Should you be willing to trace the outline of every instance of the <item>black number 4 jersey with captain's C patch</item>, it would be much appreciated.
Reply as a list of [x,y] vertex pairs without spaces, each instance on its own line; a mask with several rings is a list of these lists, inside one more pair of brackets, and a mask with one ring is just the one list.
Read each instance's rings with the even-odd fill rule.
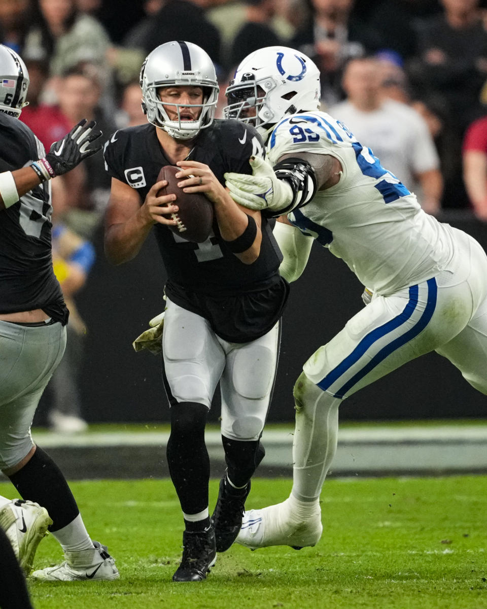
[[[207,164],[224,185],[225,172],[250,174],[248,160],[262,150],[261,137],[250,125],[216,120],[198,134],[188,158]],[[171,164],[152,124],[117,131],[105,144],[104,155],[108,173],[135,188],[141,205],[161,167]],[[216,220],[211,236],[199,244],[185,241],[164,225],[156,224],[155,231],[169,280],[186,289],[236,294],[278,275],[282,255],[264,217],[261,254],[253,264],[240,262],[228,249]]]

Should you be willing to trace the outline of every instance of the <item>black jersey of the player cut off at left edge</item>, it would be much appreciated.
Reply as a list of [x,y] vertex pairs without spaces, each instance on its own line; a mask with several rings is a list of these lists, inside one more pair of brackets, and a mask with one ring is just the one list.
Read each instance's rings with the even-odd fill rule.
[[[0,172],[44,156],[32,131],[0,112]],[[68,309],[52,270],[50,188],[44,183],[0,211],[0,313],[43,309],[65,324]]]

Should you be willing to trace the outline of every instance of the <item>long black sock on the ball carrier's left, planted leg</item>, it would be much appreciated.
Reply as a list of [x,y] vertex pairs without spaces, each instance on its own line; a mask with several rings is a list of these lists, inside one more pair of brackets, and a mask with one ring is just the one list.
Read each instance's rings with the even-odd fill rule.
[[185,514],[208,508],[209,457],[205,444],[208,408],[195,402],[173,404],[167,464]]

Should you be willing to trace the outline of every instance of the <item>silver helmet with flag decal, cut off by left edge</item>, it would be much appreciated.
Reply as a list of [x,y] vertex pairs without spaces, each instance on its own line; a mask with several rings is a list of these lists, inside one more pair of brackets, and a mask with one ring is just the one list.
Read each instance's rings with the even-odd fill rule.
[[0,44],[0,111],[19,118],[26,102],[29,88],[29,72],[26,65],[8,46]]

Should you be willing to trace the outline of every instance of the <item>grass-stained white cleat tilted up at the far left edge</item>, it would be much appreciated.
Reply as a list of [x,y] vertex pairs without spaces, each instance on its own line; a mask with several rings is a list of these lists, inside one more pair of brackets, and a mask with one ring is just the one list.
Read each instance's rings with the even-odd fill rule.
[[52,524],[45,507],[33,501],[12,499],[0,510],[0,526],[4,529],[13,551],[26,576],[32,571],[37,546]]

